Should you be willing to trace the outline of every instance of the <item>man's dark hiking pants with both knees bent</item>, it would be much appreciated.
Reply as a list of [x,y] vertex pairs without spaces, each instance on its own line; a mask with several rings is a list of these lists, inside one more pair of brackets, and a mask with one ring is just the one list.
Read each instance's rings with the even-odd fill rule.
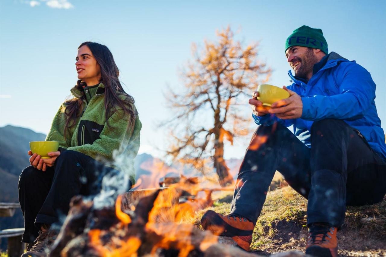
[[307,223],[343,224],[346,205],[378,203],[386,193],[385,160],[342,120],[311,128],[308,149],[279,123],[259,126],[241,164],[231,213],[256,223],[275,171],[308,199]]

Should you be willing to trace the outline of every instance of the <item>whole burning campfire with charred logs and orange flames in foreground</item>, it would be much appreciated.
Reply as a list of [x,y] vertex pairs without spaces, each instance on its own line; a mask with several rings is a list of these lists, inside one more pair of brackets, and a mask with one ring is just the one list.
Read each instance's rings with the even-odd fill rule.
[[[250,255],[191,224],[196,211],[213,204],[212,192],[223,188],[200,188],[197,178],[183,176],[173,184],[161,182],[168,187],[129,191],[118,196],[115,206],[99,209],[92,200],[74,197],[49,255]],[[200,192],[205,196],[198,197]]]

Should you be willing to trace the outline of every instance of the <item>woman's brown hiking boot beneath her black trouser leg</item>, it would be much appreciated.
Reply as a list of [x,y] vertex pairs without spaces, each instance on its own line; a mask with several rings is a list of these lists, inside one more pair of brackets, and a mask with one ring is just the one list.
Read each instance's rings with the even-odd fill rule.
[[49,247],[55,241],[56,236],[58,235],[57,230],[50,230],[46,225],[43,225],[40,228],[39,236],[34,241],[34,245],[27,249],[28,251],[22,254],[21,257],[41,257],[47,256],[49,252]]

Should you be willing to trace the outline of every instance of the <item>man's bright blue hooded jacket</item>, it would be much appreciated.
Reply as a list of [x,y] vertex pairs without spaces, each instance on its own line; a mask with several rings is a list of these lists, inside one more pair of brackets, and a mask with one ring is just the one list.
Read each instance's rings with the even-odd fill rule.
[[355,61],[349,61],[335,52],[327,63],[313,74],[307,84],[296,79],[288,71],[293,83],[287,86],[303,101],[300,118],[282,120],[274,114],[252,115],[257,125],[280,122],[286,127],[293,125],[293,133],[305,145],[311,147],[310,130],[314,121],[326,118],[344,120],[366,138],[370,147],[386,158],[385,136],[375,106],[375,83],[370,73]]

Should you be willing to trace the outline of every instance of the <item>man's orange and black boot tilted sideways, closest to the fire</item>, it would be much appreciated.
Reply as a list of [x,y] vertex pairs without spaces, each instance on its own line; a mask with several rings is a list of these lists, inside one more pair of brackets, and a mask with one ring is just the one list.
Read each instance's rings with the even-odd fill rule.
[[215,235],[231,237],[239,247],[249,251],[255,225],[246,218],[232,214],[222,215],[209,210],[202,216],[201,225]]

